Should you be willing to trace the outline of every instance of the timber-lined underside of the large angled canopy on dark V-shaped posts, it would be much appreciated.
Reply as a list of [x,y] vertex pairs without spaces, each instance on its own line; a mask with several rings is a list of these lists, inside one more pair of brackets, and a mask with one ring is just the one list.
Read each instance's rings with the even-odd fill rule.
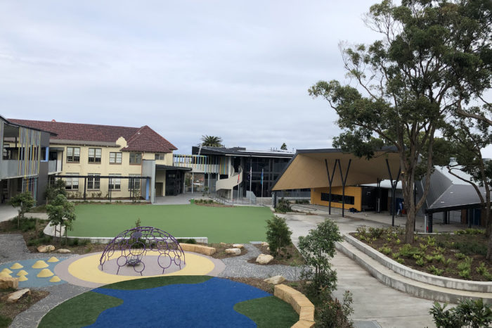
[[[394,147],[378,151],[370,160],[365,157],[358,158],[352,153],[343,153],[340,149],[303,149],[298,150],[294,158],[290,160],[272,190],[328,187],[325,160],[328,160],[330,177],[336,160],[339,160],[341,164],[343,177],[347,175],[347,167],[351,161],[346,186],[375,183],[377,179],[389,179],[386,160],[388,160],[392,179],[396,179],[400,169],[399,154],[396,153]],[[332,187],[342,186],[339,165],[333,176]]]

